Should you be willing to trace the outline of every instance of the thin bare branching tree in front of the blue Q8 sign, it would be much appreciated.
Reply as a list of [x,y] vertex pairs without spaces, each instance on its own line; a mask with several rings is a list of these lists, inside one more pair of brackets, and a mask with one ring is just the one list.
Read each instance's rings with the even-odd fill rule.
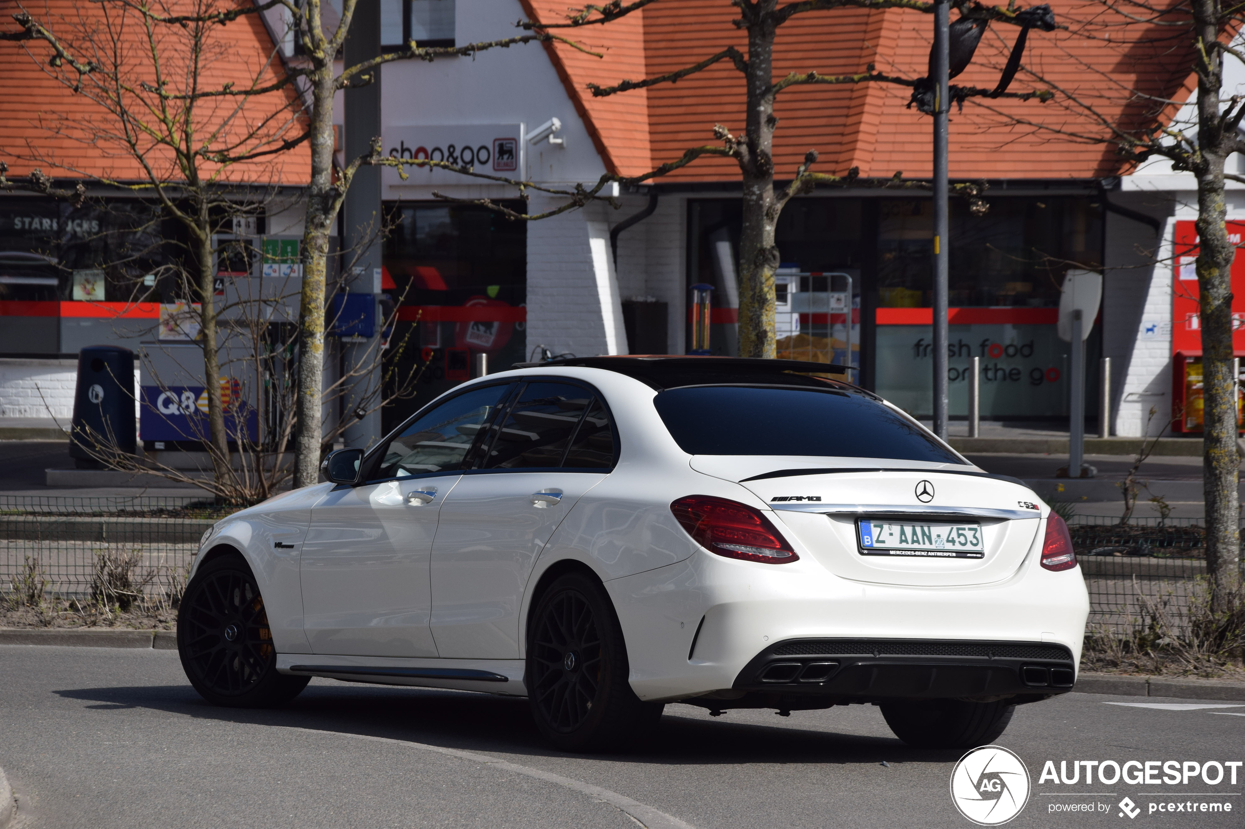
[[[235,5],[100,0],[76,16],[37,20],[19,11],[12,19],[20,30],[0,34],[30,44],[32,60],[93,104],[87,114],[44,123],[80,153],[52,155],[31,142],[24,160],[152,200],[186,232],[188,263],[179,276],[203,350],[205,441],[220,480],[229,476],[230,450],[217,383],[222,331],[213,240],[233,229],[233,218],[260,210],[270,185],[280,181],[283,157],[305,139],[299,99],[283,88],[275,55],[209,88],[209,78],[238,75],[223,68],[239,61],[222,27]],[[101,157],[106,167],[107,159],[117,159],[115,167],[123,172],[92,169],[88,162]]]

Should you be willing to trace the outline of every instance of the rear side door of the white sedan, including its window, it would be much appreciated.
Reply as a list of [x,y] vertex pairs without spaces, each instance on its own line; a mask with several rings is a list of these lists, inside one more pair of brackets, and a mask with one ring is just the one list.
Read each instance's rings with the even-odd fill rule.
[[477,469],[441,507],[432,547],[432,635],[441,656],[518,659],[532,567],[575,502],[614,466],[601,399],[529,380],[491,429]]

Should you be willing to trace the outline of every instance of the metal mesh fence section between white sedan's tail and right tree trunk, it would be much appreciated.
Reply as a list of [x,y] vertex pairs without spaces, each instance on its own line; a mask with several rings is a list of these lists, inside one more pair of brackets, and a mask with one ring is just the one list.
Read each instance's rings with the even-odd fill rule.
[[1118,628],[1162,607],[1180,624],[1206,574],[1201,518],[1073,516],[1072,547],[1089,589],[1089,624]]

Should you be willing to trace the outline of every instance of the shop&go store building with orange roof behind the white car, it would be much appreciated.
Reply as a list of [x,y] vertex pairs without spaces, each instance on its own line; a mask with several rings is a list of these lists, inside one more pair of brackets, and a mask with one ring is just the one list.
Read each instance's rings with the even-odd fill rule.
[[[520,17],[558,19],[563,5],[383,0],[381,41],[496,40],[513,36],[513,21]],[[1052,6],[1056,15],[1061,6],[1073,7],[1068,0]],[[676,85],[615,96],[594,97],[588,85],[654,77],[726,45],[742,48],[732,11],[711,0],[654,4],[578,32],[604,58],[533,44],[386,65],[380,81],[383,149],[397,158],[469,164],[553,190],[593,185],[603,174],[641,174],[690,147],[712,144],[716,123],[738,134],[742,76],[723,61]],[[266,24],[239,47],[266,53],[275,44],[293,56],[279,17]],[[873,63],[915,77],[924,73],[928,37],[929,20],[901,9],[804,15],[781,30],[774,73],[847,73]],[[1010,37],[985,40],[956,83],[994,86]],[[1076,87],[1084,81],[1084,65],[1108,63],[1108,46],[1061,37],[1035,31],[1026,53],[1026,65],[1043,66],[1051,83]],[[1059,57],[1068,50],[1077,61]],[[16,45],[0,44],[0,67],[19,61],[30,57]],[[1111,66],[1119,72],[1118,63]],[[1188,77],[1164,76],[1153,63],[1147,71],[1148,82],[1168,98],[1184,99],[1193,89]],[[39,82],[37,72],[31,70],[31,83]],[[1132,76],[1118,80],[1140,83]],[[1022,81],[1032,83],[1022,75],[1016,87]],[[51,98],[55,91],[47,92]],[[930,119],[906,108],[908,92],[879,82],[786,91],[774,134],[778,178],[791,175],[809,149],[819,152],[814,169],[824,173],[929,176]],[[47,104],[37,96],[19,99],[14,89],[0,89],[0,108],[27,113],[0,126],[0,158],[10,175],[24,172],[19,150],[35,140],[29,116],[40,106]],[[1056,106],[1000,99],[982,107],[970,99],[962,112],[952,111],[952,181],[989,184],[984,215],[966,199],[954,199],[951,206],[952,419],[966,414],[967,367],[979,357],[984,419],[1066,420],[1069,347],[1056,334],[1057,307],[1064,273],[1084,268],[1104,275],[1102,311],[1088,341],[1087,411],[1092,416],[1099,395],[1107,394],[1112,434],[1140,435],[1147,423],[1152,434],[1198,434],[1193,179],[1163,163],[1122,169],[1109,145],[1059,140],[1016,123],[1069,117]],[[1102,102],[1104,109],[1111,106],[1117,104]],[[349,118],[344,106],[336,119],[345,124]],[[283,181],[290,194],[296,194],[298,172],[291,165]],[[708,350],[735,353],[741,190],[732,160],[702,158],[639,186],[609,185],[605,193],[616,196],[619,209],[596,201],[528,222],[435,194],[487,198],[529,214],[550,210],[564,196],[529,190],[524,203],[510,185],[444,170],[407,173],[402,179],[385,169],[380,176],[390,221],[380,290],[400,303],[396,332],[410,333],[417,346],[402,359],[427,360],[428,368],[420,394],[386,410],[385,429],[468,379],[477,354],[487,354],[489,369],[499,370],[543,353],[687,352],[690,296],[697,285],[712,287]],[[296,240],[296,204],[291,195],[239,234]],[[862,385],[929,416],[930,208],[923,189],[819,188],[793,199],[777,231],[779,354],[850,359]],[[1245,227],[1245,188],[1231,183],[1229,216]],[[95,293],[91,280],[108,283],[95,273],[106,270],[108,257],[122,257],[107,249],[111,236],[97,227],[106,221],[91,209],[75,211],[45,196],[0,194],[0,416],[39,416],[42,398],[31,399],[31,378],[45,378],[54,388],[57,377],[72,375],[67,360],[83,346],[158,342],[159,306],[168,305],[158,292],[142,305],[128,298],[132,292],[116,300],[107,288]],[[29,281],[40,268],[47,271],[44,281]],[[1238,296],[1245,312],[1245,285]],[[1240,348],[1245,353],[1245,339]],[[1102,357],[1113,362],[1109,389],[1093,382]],[[66,400],[71,392],[72,383]],[[54,406],[55,396],[47,399]],[[1150,408],[1158,411],[1153,420]]]

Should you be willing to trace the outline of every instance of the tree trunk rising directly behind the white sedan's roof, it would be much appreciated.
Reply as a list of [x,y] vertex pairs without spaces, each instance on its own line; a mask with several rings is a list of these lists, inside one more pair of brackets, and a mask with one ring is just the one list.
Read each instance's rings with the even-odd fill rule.
[[[757,5],[751,14],[773,10],[774,0]],[[774,27],[759,21],[748,27],[748,109],[745,128],[743,232],[740,239],[740,357],[773,358],[774,270],[778,249],[774,227],[781,210],[774,199],[773,116]]]

